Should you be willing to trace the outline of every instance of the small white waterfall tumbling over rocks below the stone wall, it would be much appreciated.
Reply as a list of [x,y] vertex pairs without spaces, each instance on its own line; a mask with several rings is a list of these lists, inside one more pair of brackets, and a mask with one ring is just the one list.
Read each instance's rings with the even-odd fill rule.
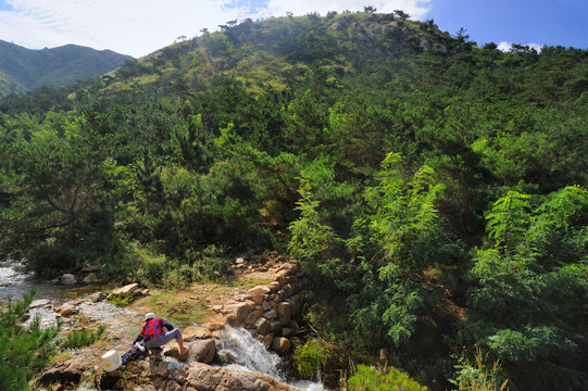
[[222,349],[227,350],[238,369],[257,371],[267,375],[280,382],[287,383],[298,390],[326,391],[320,382],[309,380],[289,381],[282,373],[282,358],[275,353],[265,350],[263,343],[258,341],[246,329],[225,330],[222,339]]

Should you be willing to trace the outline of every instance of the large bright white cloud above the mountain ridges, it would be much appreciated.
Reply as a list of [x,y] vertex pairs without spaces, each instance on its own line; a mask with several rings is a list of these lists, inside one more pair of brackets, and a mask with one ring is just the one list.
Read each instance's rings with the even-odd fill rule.
[[[0,0],[1,1],[1,0]],[[303,15],[328,11],[377,12],[403,10],[413,18],[428,11],[431,0],[268,0],[250,11],[243,0],[7,0],[12,11],[0,11],[0,39],[40,49],[76,43],[111,49],[134,56],[171,45],[177,37],[193,37],[202,28],[213,31],[227,21]],[[260,1],[255,1],[258,4]]]

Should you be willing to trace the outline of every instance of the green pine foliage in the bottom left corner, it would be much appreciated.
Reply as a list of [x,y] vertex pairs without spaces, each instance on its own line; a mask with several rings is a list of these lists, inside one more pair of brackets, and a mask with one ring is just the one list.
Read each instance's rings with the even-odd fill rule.
[[29,380],[42,369],[54,352],[54,339],[60,325],[52,328],[40,328],[39,318],[34,319],[27,328],[20,325],[18,319],[28,310],[34,292],[23,300],[9,302],[0,308],[0,389],[29,390]]

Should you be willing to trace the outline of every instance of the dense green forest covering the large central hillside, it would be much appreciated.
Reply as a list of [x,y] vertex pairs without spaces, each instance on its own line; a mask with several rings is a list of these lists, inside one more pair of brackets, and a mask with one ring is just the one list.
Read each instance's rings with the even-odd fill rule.
[[1,250],[166,286],[288,250],[352,360],[442,390],[477,346],[511,390],[585,388],[588,52],[404,16],[245,21],[4,100]]

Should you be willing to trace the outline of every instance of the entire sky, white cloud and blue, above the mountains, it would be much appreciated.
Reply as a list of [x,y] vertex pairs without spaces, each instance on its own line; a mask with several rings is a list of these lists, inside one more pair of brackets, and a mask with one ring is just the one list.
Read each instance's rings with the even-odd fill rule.
[[76,43],[142,56],[227,21],[328,11],[403,10],[478,45],[588,49],[588,0],[0,0],[0,39],[30,49]]

